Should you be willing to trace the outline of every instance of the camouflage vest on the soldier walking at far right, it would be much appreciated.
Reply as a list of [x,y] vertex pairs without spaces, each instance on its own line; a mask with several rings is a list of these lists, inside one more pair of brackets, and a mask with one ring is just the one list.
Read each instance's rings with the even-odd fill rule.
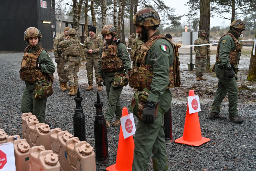
[[[225,35],[230,35],[232,37],[232,39],[234,40],[235,43],[235,50],[234,51],[230,51],[230,53],[228,54],[228,58],[229,58],[229,62],[231,65],[236,65],[239,64],[240,61],[240,56],[241,56],[241,43],[238,42],[238,40],[235,38],[234,35],[232,35],[231,33],[225,33],[223,34],[220,39],[225,36]],[[219,57],[219,45],[221,42],[218,43],[218,47],[217,47],[217,55],[216,55],[216,62],[220,62],[220,57]]]

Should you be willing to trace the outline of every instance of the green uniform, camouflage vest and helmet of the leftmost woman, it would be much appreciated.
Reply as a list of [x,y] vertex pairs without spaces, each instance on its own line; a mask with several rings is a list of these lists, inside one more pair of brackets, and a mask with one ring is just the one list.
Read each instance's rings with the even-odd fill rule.
[[[30,28],[34,28],[34,27],[30,27]],[[40,31],[37,28],[35,28],[36,35],[34,35],[35,32],[34,32],[33,35],[29,34],[28,31],[29,31],[30,28],[28,28],[25,32],[25,33],[27,33],[27,35],[24,36],[25,40],[27,40],[29,37],[40,37],[40,38],[42,37]],[[38,31],[40,33],[39,35],[37,35]],[[31,31],[29,31],[29,32],[31,32]],[[24,51],[24,56],[25,56],[25,54],[31,55],[33,53],[37,53],[39,48],[41,48],[39,46],[39,44],[37,44],[36,47],[28,46]],[[29,55],[27,55],[27,56],[29,56]],[[25,60],[25,61],[28,61],[28,60]],[[35,73],[35,75],[36,75],[37,72],[42,73],[42,75],[52,74],[52,73],[55,72],[55,65],[52,62],[52,59],[50,58],[50,55],[48,54],[48,52],[44,49],[38,55],[37,60],[36,60],[36,64],[40,64],[41,68],[39,69],[38,67],[36,67],[35,63],[34,64],[31,63],[31,65],[29,67],[29,69],[31,71],[33,71]],[[23,66],[23,62],[22,62],[22,66]],[[35,90],[34,82],[38,81],[38,80],[37,79],[30,79],[29,80],[29,78],[31,78],[31,77],[30,76],[27,77],[26,72],[24,72],[23,70],[24,69],[21,67],[20,68],[20,77],[21,78],[25,77],[25,80],[24,79],[23,80],[25,81],[26,86],[24,88],[24,92],[23,92],[23,95],[22,95],[21,111],[22,111],[22,113],[28,113],[28,112],[33,113],[34,115],[36,115],[39,123],[44,123],[45,122],[46,102],[47,102],[48,97],[35,98],[35,96],[34,96],[34,90]]]

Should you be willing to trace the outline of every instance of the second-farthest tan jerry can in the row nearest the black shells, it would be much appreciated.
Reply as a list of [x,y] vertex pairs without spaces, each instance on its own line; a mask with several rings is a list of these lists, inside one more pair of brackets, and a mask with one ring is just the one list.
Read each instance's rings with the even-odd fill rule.
[[46,150],[51,149],[50,143],[50,127],[45,123],[32,121],[28,123],[29,128],[29,145],[30,147],[42,145]]

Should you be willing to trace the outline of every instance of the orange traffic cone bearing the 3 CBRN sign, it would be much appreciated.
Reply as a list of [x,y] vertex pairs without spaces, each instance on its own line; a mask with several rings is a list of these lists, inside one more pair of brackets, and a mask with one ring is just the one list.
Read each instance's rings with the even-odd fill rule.
[[[194,96],[194,90],[189,90],[188,96]],[[183,136],[176,139],[175,143],[187,144],[193,146],[199,146],[210,141],[209,138],[202,137],[201,128],[198,118],[198,113],[189,114],[188,105],[185,118],[184,132]]]

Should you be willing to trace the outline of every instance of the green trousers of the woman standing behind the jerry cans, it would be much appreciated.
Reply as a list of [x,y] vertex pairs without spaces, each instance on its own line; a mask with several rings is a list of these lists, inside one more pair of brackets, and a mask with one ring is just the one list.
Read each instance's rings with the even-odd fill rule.
[[35,98],[34,97],[35,84],[26,83],[22,99],[21,99],[21,112],[31,112],[36,115],[39,123],[45,122],[45,109],[47,97]]

